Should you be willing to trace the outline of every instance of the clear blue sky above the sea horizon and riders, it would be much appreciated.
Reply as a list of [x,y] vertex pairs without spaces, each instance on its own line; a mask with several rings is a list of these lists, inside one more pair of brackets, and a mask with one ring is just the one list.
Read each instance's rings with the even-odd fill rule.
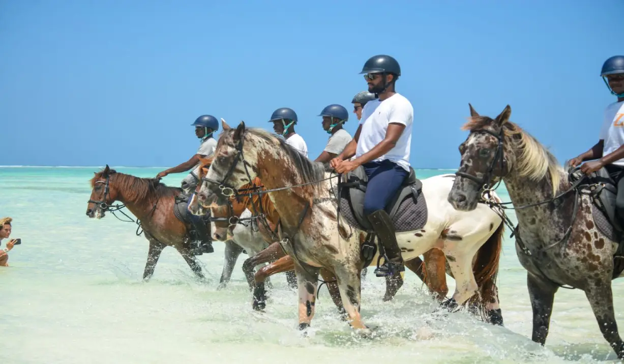
[[173,166],[197,150],[199,115],[270,128],[279,107],[316,158],[316,115],[353,109],[375,54],[401,64],[415,168],[457,168],[469,102],[492,117],[509,103],[563,163],[615,100],[599,74],[624,54],[622,14],[622,0],[2,1],[0,165]]

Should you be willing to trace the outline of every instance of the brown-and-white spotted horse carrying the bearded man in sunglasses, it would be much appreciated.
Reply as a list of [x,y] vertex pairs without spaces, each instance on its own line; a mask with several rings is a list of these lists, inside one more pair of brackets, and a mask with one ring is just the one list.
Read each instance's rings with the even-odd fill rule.
[[[359,315],[359,272],[363,268],[360,247],[366,231],[337,219],[335,181],[331,181],[336,175],[265,130],[247,129],[243,122],[232,129],[223,122],[215,159],[197,194],[200,203],[225,205],[228,196],[256,176],[270,191],[280,214],[278,236],[295,262],[300,328],[310,326],[319,269],[323,267],[336,275],[351,326],[368,333]],[[405,261],[433,247],[444,251],[457,282],[449,306],[466,303],[482,288],[479,302],[485,310],[495,297],[493,280],[498,271],[502,219],[485,205],[471,212],[452,208],[447,196],[453,181],[452,175],[422,180],[429,211],[427,223],[417,231],[397,233],[397,241]],[[480,249],[482,246],[484,249]],[[489,274],[481,286],[472,271],[477,251],[482,251],[489,263],[483,266]]]

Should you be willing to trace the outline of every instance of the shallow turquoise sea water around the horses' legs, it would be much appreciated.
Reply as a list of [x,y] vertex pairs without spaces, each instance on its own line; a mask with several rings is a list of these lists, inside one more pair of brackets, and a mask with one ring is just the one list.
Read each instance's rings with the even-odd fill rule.
[[[505,232],[499,290],[505,327],[464,312],[437,315],[421,281],[406,272],[392,302],[372,271],[363,282],[361,314],[376,337],[359,338],[339,320],[321,289],[308,337],[297,330],[297,295],[283,274],[265,313],[251,309],[241,271],[217,290],[223,245],[199,257],[207,284],[168,247],[152,280],[141,280],[147,240],[136,226],[107,214],[85,216],[88,184],[99,168],[0,168],[0,216],[14,218],[22,245],[0,269],[0,363],[595,363],[617,360],[598,330],[583,292],[555,296],[546,347],[530,340],[532,313],[526,273]],[[160,168],[117,168],[155,176]],[[419,170],[419,178],[448,171]],[[167,176],[177,185],[183,174]],[[501,188],[505,201],[509,197]],[[515,216],[511,214],[512,220]],[[2,245],[4,247],[4,245]],[[449,289],[454,289],[450,277]],[[449,294],[450,295],[450,294]],[[620,323],[624,285],[613,285]]]

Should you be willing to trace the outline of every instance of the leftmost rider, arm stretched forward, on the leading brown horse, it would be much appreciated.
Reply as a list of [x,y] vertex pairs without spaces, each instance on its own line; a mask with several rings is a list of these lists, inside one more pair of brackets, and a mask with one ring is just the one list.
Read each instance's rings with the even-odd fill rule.
[[[195,167],[195,169],[191,171],[191,173],[189,173],[184,180],[182,180],[182,188],[185,189],[185,191],[193,191],[193,189],[197,187],[197,184],[199,183],[199,168],[201,166],[199,158],[206,158],[215,153],[217,140],[215,140],[213,134],[219,130],[219,122],[217,121],[217,118],[212,115],[202,115],[191,125],[195,127],[195,135],[197,135],[197,138],[202,140],[197,153],[195,153],[195,155],[193,155],[188,161],[180,163],[180,165],[164,170],[156,175],[156,178],[160,180],[160,178],[163,178],[171,173],[186,172]],[[191,200],[192,196],[188,198],[188,203],[190,203]],[[191,246],[193,248],[199,247],[199,251],[195,251],[195,253],[200,254],[200,252],[214,252],[215,249],[212,247],[212,236],[210,236],[210,230],[208,226],[203,223],[202,217],[193,214],[188,214],[188,216],[190,216],[193,226],[195,227],[195,235],[197,238],[191,243]]]

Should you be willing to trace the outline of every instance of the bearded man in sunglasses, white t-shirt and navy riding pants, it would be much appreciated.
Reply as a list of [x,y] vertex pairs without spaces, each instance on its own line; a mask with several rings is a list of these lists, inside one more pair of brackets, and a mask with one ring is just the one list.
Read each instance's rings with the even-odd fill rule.
[[[386,251],[385,262],[375,269],[375,274],[386,277],[405,271],[394,224],[385,208],[409,176],[414,108],[407,98],[395,92],[394,85],[401,75],[396,59],[375,55],[366,61],[360,73],[364,74],[369,92],[379,98],[366,103],[355,137],[331,160],[331,166],[338,173],[353,171],[360,165],[366,171],[364,214]],[[353,155],[356,158],[348,160]]]

